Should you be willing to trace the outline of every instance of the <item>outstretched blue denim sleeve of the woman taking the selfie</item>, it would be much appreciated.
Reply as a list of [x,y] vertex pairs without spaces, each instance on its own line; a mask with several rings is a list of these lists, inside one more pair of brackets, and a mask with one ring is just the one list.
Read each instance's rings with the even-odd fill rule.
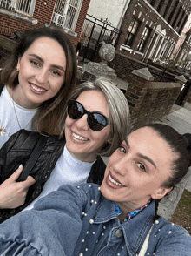
[[[0,225],[0,255],[72,255],[82,229],[85,193],[63,186]],[[3,253],[7,254],[3,254]]]

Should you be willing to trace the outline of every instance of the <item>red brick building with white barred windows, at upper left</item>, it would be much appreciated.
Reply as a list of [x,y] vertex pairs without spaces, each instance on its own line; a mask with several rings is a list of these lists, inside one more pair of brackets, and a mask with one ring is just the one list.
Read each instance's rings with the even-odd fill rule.
[[14,37],[16,30],[56,24],[76,46],[90,0],[1,0],[0,34]]

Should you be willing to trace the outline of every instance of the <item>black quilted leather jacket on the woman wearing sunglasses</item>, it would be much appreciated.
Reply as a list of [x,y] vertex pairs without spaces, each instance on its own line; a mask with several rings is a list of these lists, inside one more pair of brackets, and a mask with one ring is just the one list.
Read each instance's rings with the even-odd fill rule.
[[[43,136],[43,135],[42,135]],[[31,153],[36,147],[38,133],[35,131],[20,130],[13,134],[0,150],[0,184],[16,171],[19,165],[26,164]],[[0,223],[5,219],[22,211],[27,205],[38,197],[43,190],[43,185],[49,179],[56,161],[63,152],[65,138],[50,136],[43,148],[43,152],[38,158],[30,175],[36,179],[36,183],[30,186],[24,205],[16,209],[0,209]],[[88,183],[101,185],[106,165],[100,156],[89,173]]]

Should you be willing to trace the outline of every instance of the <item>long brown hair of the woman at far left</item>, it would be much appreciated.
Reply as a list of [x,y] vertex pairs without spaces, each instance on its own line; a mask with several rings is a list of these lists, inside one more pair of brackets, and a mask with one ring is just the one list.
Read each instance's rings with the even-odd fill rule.
[[11,56],[3,65],[1,80],[3,84],[8,84],[11,88],[16,87],[19,83],[18,71],[16,71],[18,59],[22,57],[24,52],[29,49],[30,45],[40,37],[52,38],[63,47],[66,56],[66,71],[65,81],[60,91],[54,98],[43,102],[38,108],[35,117],[32,119],[32,130],[46,131],[50,135],[60,135],[63,128],[60,125],[60,116],[66,109],[70,92],[76,88],[77,73],[76,53],[63,30],[43,27],[25,31],[16,45],[16,48],[11,53]]

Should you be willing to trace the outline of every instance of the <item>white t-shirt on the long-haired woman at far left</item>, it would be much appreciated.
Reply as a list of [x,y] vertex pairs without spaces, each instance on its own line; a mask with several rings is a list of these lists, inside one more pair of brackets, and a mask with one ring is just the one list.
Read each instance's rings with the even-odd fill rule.
[[15,109],[16,113],[12,98],[4,86],[0,96],[0,148],[13,133],[20,130],[18,121],[22,129],[31,130],[30,120],[35,116],[37,109],[24,109],[16,103]]

